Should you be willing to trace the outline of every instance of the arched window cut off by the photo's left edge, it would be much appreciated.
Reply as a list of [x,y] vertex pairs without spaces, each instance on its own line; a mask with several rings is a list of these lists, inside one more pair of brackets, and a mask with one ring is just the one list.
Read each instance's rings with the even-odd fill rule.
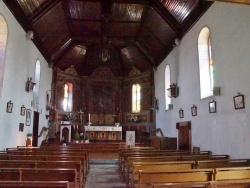
[[0,15],[0,96],[3,89],[3,74],[5,64],[5,50],[7,44],[8,27],[2,15]]

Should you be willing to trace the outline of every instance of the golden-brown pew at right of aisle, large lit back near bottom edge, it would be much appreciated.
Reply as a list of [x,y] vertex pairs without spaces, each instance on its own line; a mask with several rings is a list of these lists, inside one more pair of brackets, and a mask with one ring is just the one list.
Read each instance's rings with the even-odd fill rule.
[[[139,170],[138,188],[152,187],[152,183],[211,181],[213,169],[172,170],[150,172]],[[149,186],[147,186],[149,185]],[[132,182],[132,187],[135,187]]]

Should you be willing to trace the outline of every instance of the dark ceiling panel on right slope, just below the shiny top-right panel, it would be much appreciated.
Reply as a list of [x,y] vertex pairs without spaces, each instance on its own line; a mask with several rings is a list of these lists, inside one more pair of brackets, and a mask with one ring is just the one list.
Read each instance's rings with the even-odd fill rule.
[[176,34],[154,9],[150,9],[145,17],[145,26],[157,38],[159,43],[166,46],[174,41]]

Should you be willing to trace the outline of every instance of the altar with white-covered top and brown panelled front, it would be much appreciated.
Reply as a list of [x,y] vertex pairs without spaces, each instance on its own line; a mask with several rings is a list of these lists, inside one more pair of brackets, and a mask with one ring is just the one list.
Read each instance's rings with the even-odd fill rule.
[[122,127],[116,126],[85,126],[90,141],[122,141]]

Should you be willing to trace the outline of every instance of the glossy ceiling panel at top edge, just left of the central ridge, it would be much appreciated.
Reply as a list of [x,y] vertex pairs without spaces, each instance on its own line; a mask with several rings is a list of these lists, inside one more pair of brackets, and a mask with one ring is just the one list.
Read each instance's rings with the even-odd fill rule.
[[69,11],[71,19],[101,19],[101,8],[101,2],[69,1]]

